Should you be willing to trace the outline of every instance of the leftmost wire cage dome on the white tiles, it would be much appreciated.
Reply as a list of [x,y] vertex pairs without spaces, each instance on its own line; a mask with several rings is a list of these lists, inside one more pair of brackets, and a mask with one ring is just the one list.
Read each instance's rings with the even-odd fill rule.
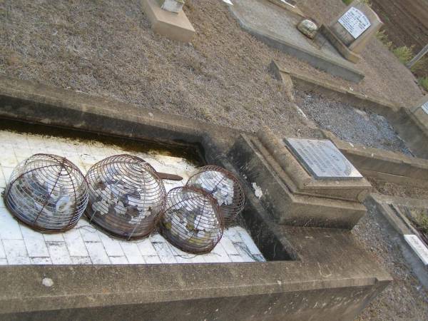
[[73,228],[88,204],[88,185],[66,158],[36,154],[16,166],[4,193],[11,213],[35,230]]

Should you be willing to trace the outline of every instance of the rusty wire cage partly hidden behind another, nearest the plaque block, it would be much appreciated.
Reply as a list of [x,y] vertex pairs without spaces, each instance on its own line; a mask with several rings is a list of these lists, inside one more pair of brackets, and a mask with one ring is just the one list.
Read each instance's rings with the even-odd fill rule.
[[220,166],[208,165],[199,168],[186,184],[202,188],[217,200],[226,224],[233,223],[243,211],[245,194],[238,178]]

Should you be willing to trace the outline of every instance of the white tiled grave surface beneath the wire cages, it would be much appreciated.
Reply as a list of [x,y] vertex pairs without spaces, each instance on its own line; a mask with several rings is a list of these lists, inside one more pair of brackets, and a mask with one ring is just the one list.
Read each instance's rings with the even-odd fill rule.
[[[103,143],[82,143],[66,138],[0,131],[0,190],[6,187],[11,171],[20,161],[35,153],[65,156],[86,173],[103,158],[127,151]],[[132,153],[164,173],[183,176],[182,182],[165,180],[166,190],[183,185],[195,170],[183,158],[154,153]],[[110,238],[81,218],[66,233],[41,234],[22,225],[5,208],[0,198],[0,265],[26,264],[159,264],[232,263],[264,261],[250,235],[240,227],[225,230],[220,243],[205,255],[190,255],[170,245],[161,235],[126,242]]]

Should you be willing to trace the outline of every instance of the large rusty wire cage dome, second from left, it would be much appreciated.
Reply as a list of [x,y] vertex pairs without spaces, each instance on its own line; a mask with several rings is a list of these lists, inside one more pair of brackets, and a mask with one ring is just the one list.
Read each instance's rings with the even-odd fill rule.
[[136,156],[111,156],[93,165],[86,180],[91,223],[127,240],[144,238],[156,228],[166,192],[149,163]]

